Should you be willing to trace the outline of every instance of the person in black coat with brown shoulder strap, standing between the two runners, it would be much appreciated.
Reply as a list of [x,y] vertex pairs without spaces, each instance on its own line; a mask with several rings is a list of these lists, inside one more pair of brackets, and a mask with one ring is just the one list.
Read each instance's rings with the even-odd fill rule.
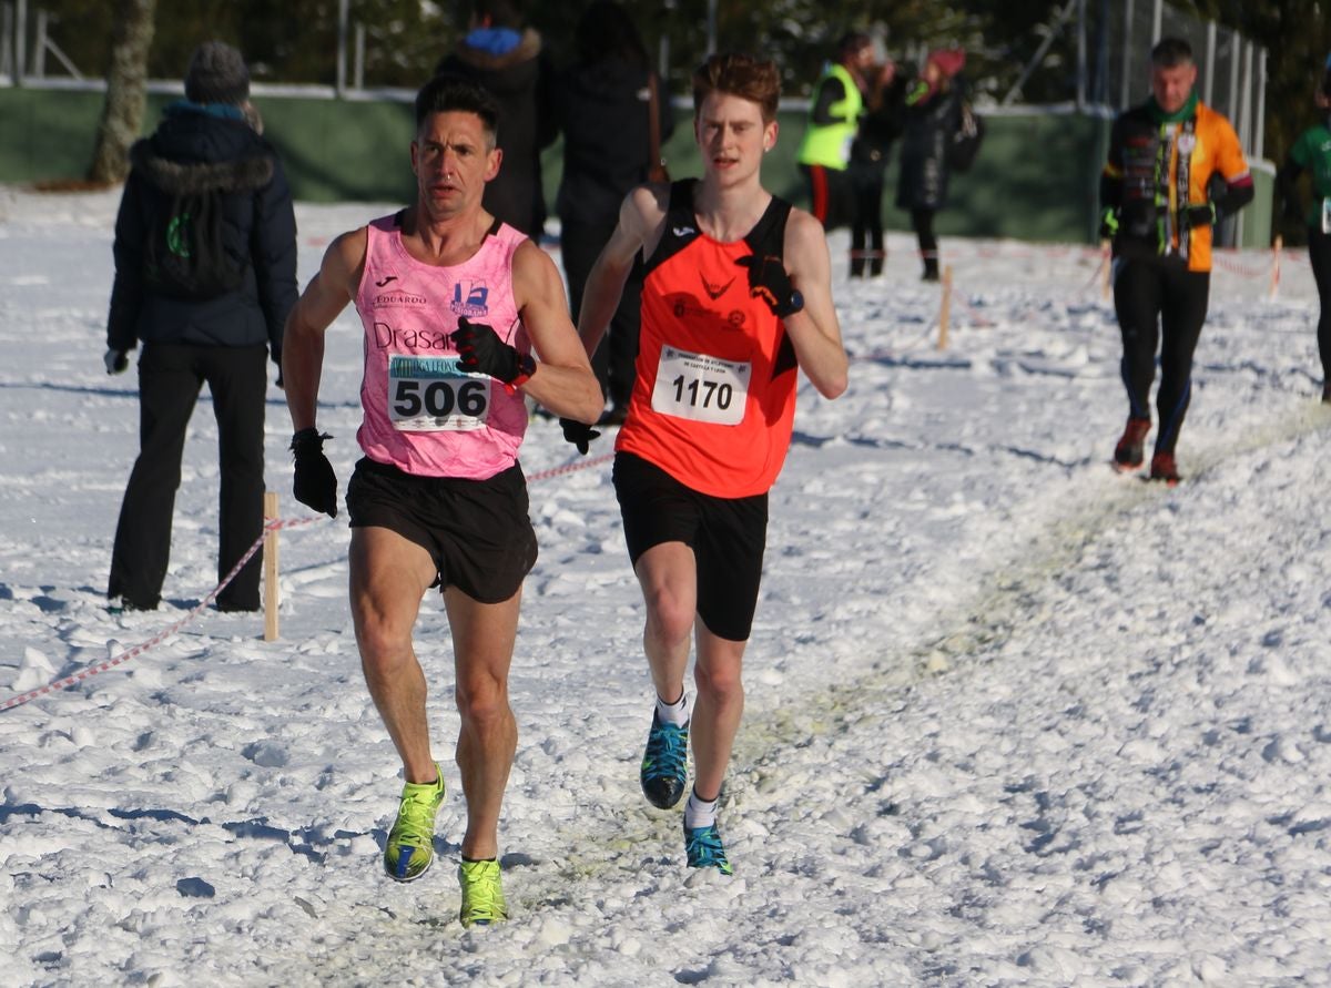
[[[559,75],[554,100],[564,134],[555,210],[574,317],[582,308],[587,276],[619,222],[624,196],[650,178],[654,85],[660,140],[673,130],[669,99],[662,93],[647,49],[620,4],[591,4],[578,23],[576,45],[578,60]],[[608,340],[592,356],[592,369],[610,401],[606,422],[623,421],[634,390],[642,280],[643,261],[638,258]]]

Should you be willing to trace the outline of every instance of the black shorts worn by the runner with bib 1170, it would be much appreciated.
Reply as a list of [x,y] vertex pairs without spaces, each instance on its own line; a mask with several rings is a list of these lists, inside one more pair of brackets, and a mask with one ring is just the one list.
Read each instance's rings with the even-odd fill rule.
[[697,565],[697,613],[708,630],[747,642],[757,609],[767,546],[767,494],[713,498],[632,453],[615,454],[615,494],[628,558],[683,542]]

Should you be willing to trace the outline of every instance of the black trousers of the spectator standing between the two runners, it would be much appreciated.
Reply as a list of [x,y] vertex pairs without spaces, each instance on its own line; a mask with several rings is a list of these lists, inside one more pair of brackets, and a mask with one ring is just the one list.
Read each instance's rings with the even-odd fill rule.
[[[564,274],[568,278],[568,308],[574,322],[582,309],[583,288],[591,274],[596,257],[615,232],[615,224],[608,226],[562,221],[559,249],[564,258]],[[635,364],[638,361],[638,334],[642,328],[643,300],[643,258],[634,260],[634,269],[624,284],[619,308],[610,321],[610,332],[602,338],[600,346],[591,357],[591,369],[600,381],[600,391],[616,409],[628,406],[634,393]]]

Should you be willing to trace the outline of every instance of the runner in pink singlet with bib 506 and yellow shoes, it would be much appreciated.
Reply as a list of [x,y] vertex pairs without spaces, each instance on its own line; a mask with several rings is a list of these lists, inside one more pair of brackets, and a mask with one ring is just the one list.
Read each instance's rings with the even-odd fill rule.
[[337,477],[323,455],[331,437],[319,433],[315,410],[323,334],[355,304],[365,330],[357,433],[365,455],[346,491],[351,617],[366,684],[406,780],[383,867],[414,881],[434,862],[445,783],[413,630],[425,591],[439,586],[467,803],[458,915],[473,925],[508,916],[499,873],[499,811],[518,743],[508,667],[522,582],[536,559],[518,463],[523,398],[591,423],[602,394],[554,262],[480,205],[503,157],[492,97],[445,76],[417,93],[415,109],[415,205],[333,241],[287,320],[282,373],[295,498],[335,517]]

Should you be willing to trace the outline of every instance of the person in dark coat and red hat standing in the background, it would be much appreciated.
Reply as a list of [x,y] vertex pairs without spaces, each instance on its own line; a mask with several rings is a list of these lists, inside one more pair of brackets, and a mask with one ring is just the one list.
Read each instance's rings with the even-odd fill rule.
[[964,93],[957,73],[965,60],[958,48],[930,52],[924,72],[905,95],[897,208],[910,213],[925,281],[938,280],[933,217],[948,201],[948,145],[961,126]]

